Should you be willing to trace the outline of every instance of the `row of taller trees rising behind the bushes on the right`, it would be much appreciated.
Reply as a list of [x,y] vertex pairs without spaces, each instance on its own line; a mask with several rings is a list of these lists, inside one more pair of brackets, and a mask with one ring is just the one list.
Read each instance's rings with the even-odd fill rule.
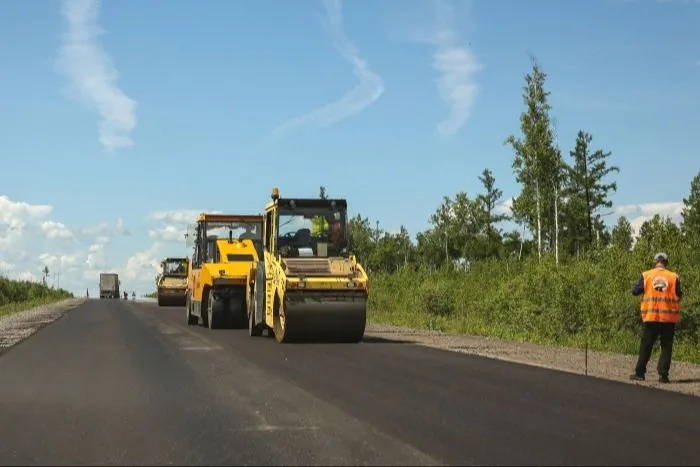
[[[545,255],[558,264],[611,246],[629,251],[636,243],[650,248],[655,237],[676,233],[689,238],[700,232],[700,173],[684,199],[680,226],[657,215],[641,226],[637,239],[625,216],[614,226],[606,225],[605,216],[613,212],[610,197],[617,190],[614,175],[620,168],[610,163],[611,152],[596,148],[593,136],[584,129],[578,131],[568,158],[562,156],[546,78],[533,58],[523,86],[522,134],[509,135],[504,141],[513,149],[512,168],[520,185],[511,212],[498,209],[503,192],[485,168],[478,177],[481,192],[445,196],[430,216],[430,228],[419,232],[416,241],[403,226],[392,234],[383,231],[379,221],[372,223],[357,214],[348,222],[349,240],[353,253],[368,269],[391,272],[407,265],[440,268],[458,260],[473,263]],[[322,196],[325,193],[321,187]],[[514,222],[518,229],[504,231],[505,221]],[[526,230],[530,239],[525,238]]]

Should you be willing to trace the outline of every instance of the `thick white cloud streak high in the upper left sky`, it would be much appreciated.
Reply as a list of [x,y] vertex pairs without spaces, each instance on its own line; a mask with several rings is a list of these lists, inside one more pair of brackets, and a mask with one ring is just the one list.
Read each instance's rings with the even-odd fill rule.
[[135,100],[116,84],[118,72],[98,41],[97,0],[66,0],[62,13],[68,20],[57,65],[79,97],[102,117],[99,140],[108,151],[133,145],[129,133],[136,126]]

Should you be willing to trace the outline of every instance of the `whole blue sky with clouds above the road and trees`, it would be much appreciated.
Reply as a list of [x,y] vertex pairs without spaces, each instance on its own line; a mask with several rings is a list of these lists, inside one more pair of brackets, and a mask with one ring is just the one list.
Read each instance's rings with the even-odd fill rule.
[[485,167],[505,201],[528,53],[565,154],[579,129],[612,151],[616,215],[677,218],[700,170],[697,1],[6,0],[0,273],[49,264],[84,291],[113,269],[146,292],[192,212],[260,212],[274,185],[413,234]]

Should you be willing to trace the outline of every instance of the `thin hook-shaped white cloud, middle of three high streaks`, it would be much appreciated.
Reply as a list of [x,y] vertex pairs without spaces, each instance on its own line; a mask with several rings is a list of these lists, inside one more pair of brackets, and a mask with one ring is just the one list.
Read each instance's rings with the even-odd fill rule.
[[352,65],[353,73],[360,83],[341,99],[278,126],[272,132],[273,138],[280,138],[303,125],[323,127],[337,123],[361,112],[384,93],[382,77],[372,71],[357,48],[345,36],[340,0],[324,0],[323,3],[326,9],[326,28],[333,37],[336,49]]

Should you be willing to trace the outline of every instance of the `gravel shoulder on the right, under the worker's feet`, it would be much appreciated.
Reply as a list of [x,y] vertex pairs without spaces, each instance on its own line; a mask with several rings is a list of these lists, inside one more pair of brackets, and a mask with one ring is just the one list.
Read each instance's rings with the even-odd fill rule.
[[[470,355],[533,365],[576,374],[586,374],[586,354],[583,349],[545,346],[525,342],[411,329],[384,324],[367,324],[366,338],[379,338],[412,342],[427,347],[461,352]],[[588,351],[588,376],[628,384],[639,384],[668,391],[700,396],[700,365],[673,362],[670,384],[658,383],[656,362],[659,358],[658,344],[647,365],[647,380],[629,380],[637,361],[636,355],[611,352]]]

